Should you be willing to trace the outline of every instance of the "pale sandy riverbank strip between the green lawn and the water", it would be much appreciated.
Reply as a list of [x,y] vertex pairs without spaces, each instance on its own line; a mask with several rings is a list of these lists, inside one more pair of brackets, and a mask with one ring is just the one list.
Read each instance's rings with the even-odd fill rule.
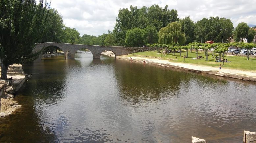
[[177,62],[171,62],[171,60],[161,60],[158,58],[149,58],[149,57],[143,57],[143,56],[139,57],[139,56],[132,56],[132,55],[124,55],[124,56],[118,56],[117,58],[123,59],[123,60],[129,60],[129,61],[131,60],[130,58],[132,58],[134,62],[142,62],[143,60],[145,60],[147,64],[155,64],[155,65],[164,66],[164,67],[212,74],[212,75],[221,76],[221,77],[256,81],[256,72],[229,69],[229,68],[225,68],[224,65],[222,65],[222,69],[221,71],[219,71],[218,67],[216,68],[216,67],[199,66],[199,65],[187,64],[187,63],[177,63]]

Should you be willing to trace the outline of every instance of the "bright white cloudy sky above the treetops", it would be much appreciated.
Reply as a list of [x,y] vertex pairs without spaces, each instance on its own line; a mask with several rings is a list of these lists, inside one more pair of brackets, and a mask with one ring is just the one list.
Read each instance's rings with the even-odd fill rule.
[[230,18],[234,27],[241,22],[256,25],[256,0],[52,0],[51,8],[57,9],[64,24],[76,28],[80,36],[98,36],[113,30],[119,9],[154,4],[168,5],[180,18],[190,16],[194,22],[219,16]]

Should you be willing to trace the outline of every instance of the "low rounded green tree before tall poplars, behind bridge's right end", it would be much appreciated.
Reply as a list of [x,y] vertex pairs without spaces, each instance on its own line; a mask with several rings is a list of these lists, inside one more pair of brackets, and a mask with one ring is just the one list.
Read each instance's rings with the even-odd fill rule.
[[145,45],[145,30],[133,28],[126,32],[125,44],[131,47],[142,47]]

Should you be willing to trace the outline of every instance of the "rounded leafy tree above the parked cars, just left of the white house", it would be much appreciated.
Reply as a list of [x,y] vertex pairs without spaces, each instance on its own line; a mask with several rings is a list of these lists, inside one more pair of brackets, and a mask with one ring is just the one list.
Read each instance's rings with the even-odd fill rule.
[[243,41],[243,39],[246,38],[249,29],[249,26],[245,22],[239,23],[234,31],[234,40],[239,42],[242,39]]

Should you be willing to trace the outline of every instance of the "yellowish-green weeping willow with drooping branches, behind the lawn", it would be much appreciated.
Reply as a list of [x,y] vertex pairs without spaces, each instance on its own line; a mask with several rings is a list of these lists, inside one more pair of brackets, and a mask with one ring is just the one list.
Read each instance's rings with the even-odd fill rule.
[[169,23],[158,32],[159,44],[183,45],[185,43],[185,34],[181,31],[181,24],[178,22]]

